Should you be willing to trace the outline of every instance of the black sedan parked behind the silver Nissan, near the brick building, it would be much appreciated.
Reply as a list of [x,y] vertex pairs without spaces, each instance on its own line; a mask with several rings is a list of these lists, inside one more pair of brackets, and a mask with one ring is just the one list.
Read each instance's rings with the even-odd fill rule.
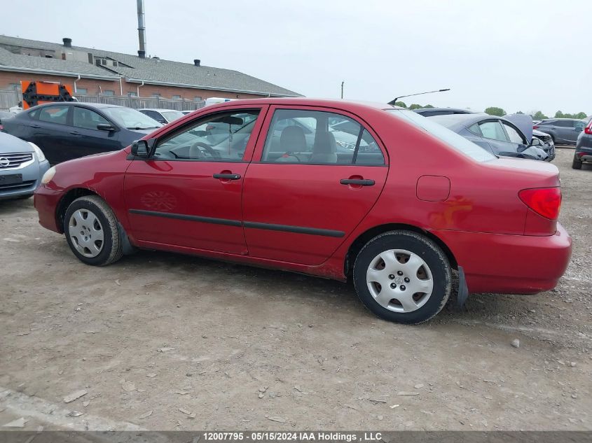
[[1,130],[35,143],[50,164],[125,148],[162,126],[131,108],[107,104],[42,104],[1,119]]

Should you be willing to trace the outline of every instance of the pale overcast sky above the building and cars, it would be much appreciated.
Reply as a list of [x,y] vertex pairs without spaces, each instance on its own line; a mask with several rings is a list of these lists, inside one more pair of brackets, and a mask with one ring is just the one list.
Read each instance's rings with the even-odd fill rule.
[[[145,0],[149,55],[307,97],[592,114],[587,0]],[[4,2],[0,33],[137,54],[134,0]]]

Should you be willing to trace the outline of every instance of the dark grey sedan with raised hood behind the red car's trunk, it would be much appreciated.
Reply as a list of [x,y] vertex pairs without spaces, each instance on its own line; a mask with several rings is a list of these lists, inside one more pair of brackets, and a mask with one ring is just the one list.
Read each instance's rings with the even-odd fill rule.
[[428,118],[462,135],[493,155],[530,160],[551,159],[542,146],[532,146],[532,129],[528,136],[524,134],[523,130],[532,128],[530,123],[521,130],[506,118],[486,113],[434,115]]

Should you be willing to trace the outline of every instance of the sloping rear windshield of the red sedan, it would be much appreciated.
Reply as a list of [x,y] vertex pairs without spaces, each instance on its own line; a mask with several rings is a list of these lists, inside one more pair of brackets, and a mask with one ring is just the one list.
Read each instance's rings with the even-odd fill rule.
[[386,109],[385,111],[390,112],[392,115],[396,115],[399,118],[403,118],[407,122],[413,123],[413,125],[420,127],[425,132],[432,134],[436,139],[440,139],[446,143],[450,148],[454,148],[476,162],[486,162],[495,158],[494,155],[488,153],[480,146],[465,139],[463,136],[458,135],[456,132],[452,132],[450,129],[439,125],[432,121],[431,118],[425,118],[418,113],[406,111],[404,109]]

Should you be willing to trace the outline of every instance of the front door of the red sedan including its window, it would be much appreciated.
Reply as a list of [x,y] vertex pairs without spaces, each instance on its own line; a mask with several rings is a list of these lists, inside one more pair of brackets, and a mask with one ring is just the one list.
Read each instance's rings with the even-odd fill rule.
[[[140,246],[247,254],[242,188],[266,109],[235,106],[195,118],[159,135],[149,159],[131,162],[123,192]],[[216,145],[192,133],[209,122],[248,119],[240,134]]]

